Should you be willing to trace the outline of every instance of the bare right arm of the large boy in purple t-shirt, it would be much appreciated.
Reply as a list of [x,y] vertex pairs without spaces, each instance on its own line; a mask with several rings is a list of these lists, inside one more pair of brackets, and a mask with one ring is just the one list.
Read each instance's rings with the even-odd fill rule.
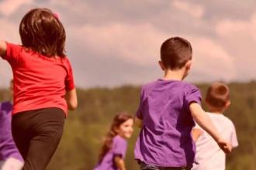
[[220,136],[219,132],[216,130],[209,116],[206,114],[204,110],[202,110],[202,107],[199,104],[192,102],[189,105],[189,110],[191,111],[192,117],[194,118],[196,123],[199,124],[201,128],[203,128],[207,133],[209,133],[213,137],[213,139],[218,143],[220,148],[225,153],[230,153],[230,151],[232,150],[230,142],[224,140]]

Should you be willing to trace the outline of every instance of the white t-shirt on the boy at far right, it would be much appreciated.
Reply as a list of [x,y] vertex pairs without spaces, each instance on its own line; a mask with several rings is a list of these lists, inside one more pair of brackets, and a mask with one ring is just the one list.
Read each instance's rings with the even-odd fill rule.
[[[207,113],[213,124],[216,126],[223,138],[231,142],[233,148],[238,146],[237,134],[234,124],[228,117],[223,114]],[[196,141],[196,155],[195,161],[199,164],[193,165],[193,170],[224,170],[226,155],[216,144],[213,138],[202,130],[199,126],[196,128],[201,129],[202,134]]]

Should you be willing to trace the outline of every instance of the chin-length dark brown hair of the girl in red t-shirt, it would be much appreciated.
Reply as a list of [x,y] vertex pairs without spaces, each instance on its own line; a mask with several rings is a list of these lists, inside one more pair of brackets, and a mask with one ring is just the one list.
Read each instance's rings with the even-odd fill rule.
[[26,13],[19,24],[19,35],[22,46],[43,56],[66,56],[64,26],[50,9],[34,8]]

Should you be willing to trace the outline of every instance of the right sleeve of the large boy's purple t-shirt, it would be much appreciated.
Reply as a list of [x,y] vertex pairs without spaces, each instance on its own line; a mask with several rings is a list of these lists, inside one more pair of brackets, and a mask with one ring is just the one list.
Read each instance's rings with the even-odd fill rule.
[[185,87],[187,90],[185,90],[185,107],[187,107],[187,110],[189,110],[189,105],[192,102],[196,102],[201,105],[201,93],[199,88],[194,87],[192,85],[189,85],[189,87]]

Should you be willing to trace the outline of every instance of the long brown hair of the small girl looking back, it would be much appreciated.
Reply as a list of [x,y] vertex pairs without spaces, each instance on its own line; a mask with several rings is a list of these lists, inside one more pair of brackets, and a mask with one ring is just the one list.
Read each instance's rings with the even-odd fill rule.
[[114,138],[117,133],[115,131],[116,128],[119,128],[121,124],[128,121],[129,119],[132,119],[133,117],[130,116],[130,114],[127,114],[125,112],[116,114],[116,116],[112,120],[112,124],[110,126],[110,129],[108,133],[106,134],[106,138],[103,141],[102,148],[99,152],[99,162],[102,162],[102,159],[106,155],[106,153],[112,148],[112,138]]

